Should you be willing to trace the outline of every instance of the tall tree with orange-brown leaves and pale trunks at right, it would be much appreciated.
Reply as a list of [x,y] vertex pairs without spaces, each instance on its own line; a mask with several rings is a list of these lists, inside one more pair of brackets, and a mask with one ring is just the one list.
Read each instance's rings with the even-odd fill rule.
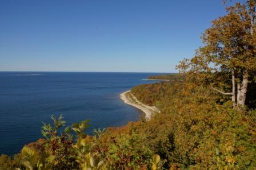
[[[232,96],[234,107],[245,106],[247,86],[256,70],[256,2],[246,1],[227,7],[227,14],[213,21],[202,36],[200,47],[191,60],[183,60],[178,69],[190,80],[203,81],[217,92]],[[229,80],[231,77],[231,86]],[[222,89],[232,89],[223,92]],[[236,88],[237,85],[237,88]],[[236,95],[237,94],[237,95]]]

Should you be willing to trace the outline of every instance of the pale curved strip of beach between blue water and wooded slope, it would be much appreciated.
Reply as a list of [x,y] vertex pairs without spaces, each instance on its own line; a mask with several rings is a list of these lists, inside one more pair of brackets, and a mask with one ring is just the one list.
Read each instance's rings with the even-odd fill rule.
[[[143,111],[143,113],[145,113],[145,118],[147,121],[155,112],[160,113],[157,107],[143,104],[142,102],[138,101],[138,99],[135,96],[133,96],[133,94],[131,94],[130,92],[131,90],[121,93],[119,95],[120,99],[127,105],[134,106],[137,109]],[[128,95],[130,95],[130,97]]]

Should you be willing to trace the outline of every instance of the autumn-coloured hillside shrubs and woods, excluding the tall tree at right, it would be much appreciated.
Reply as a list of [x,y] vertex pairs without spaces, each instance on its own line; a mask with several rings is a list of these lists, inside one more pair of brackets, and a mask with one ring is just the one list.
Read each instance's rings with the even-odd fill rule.
[[157,105],[161,114],[147,122],[95,130],[95,136],[84,133],[88,121],[72,126],[75,136],[70,128],[57,135],[65,122],[53,117],[53,127],[42,127],[44,139],[25,146],[13,159],[2,155],[1,168],[151,169],[154,155],[166,169],[256,167],[255,110],[233,109],[228,99],[191,82],[141,85],[132,93]]

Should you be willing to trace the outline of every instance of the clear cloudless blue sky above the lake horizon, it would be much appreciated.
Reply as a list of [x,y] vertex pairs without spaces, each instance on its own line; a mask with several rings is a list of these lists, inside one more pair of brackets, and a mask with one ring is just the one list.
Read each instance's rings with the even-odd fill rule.
[[222,0],[0,0],[0,71],[177,72]]

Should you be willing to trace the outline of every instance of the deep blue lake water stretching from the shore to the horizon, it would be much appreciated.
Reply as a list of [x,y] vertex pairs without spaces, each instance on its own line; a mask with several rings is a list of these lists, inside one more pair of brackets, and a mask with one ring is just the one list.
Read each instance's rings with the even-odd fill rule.
[[0,155],[13,155],[42,138],[42,122],[62,114],[67,125],[84,119],[93,128],[126,125],[141,111],[119,94],[160,73],[0,72]]

